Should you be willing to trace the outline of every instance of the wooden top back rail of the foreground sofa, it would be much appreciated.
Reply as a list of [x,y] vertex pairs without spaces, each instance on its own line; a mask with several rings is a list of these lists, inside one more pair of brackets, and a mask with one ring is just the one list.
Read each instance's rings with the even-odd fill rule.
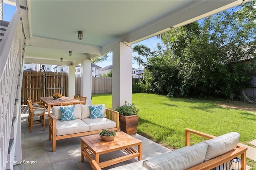
[[[216,166],[220,166],[221,164],[228,162],[229,160],[232,160],[233,158],[236,158],[236,156],[245,154],[246,150],[247,150],[247,147],[245,146],[236,148],[234,150],[231,150],[230,152],[227,152],[226,154],[222,154],[202,164],[189,168],[188,170],[210,170],[212,168],[215,168]],[[245,163],[246,160],[242,159],[242,162]]]

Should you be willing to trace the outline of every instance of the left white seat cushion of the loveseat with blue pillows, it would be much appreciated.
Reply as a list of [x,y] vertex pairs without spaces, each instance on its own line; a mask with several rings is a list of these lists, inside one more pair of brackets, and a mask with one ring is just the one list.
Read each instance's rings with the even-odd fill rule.
[[56,121],[56,135],[61,136],[65,134],[74,134],[80,132],[88,132],[90,130],[89,125],[84,123],[81,119],[73,121]]

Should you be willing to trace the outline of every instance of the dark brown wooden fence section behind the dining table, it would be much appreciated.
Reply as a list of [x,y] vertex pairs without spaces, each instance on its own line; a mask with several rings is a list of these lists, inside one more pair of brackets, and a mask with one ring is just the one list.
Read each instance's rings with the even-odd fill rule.
[[52,96],[54,93],[68,96],[68,74],[53,72],[24,71],[22,80],[22,105],[28,96],[39,101],[40,97]]

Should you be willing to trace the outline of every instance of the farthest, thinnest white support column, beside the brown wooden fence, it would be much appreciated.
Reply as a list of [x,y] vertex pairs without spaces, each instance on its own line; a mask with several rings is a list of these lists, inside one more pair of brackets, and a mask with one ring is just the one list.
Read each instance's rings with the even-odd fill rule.
[[75,66],[68,65],[68,97],[73,98],[75,95],[76,75]]

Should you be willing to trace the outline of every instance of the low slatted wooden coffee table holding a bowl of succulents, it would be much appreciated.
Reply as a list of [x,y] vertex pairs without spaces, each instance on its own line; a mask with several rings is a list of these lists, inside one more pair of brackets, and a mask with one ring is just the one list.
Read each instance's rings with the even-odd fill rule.
[[[138,146],[138,151],[132,146]],[[100,155],[113,152],[116,150],[125,150],[127,154],[119,158],[114,158],[105,162],[100,162]],[[94,154],[94,158],[92,157]],[[116,137],[112,141],[104,141],[99,134],[81,137],[81,162],[84,162],[84,157],[92,165],[92,160],[95,160],[100,168],[117,164],[135,157],[142,160],[142,141],[126,134],[124,132],[116,132]]]

